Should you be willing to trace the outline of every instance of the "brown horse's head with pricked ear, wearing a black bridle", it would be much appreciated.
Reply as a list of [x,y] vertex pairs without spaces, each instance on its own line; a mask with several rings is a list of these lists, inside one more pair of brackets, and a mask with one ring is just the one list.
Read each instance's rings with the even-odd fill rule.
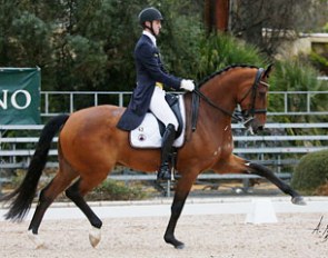
[[272,64],[267,69],[259,68],[252,83],[243,86],[239,91],[238,102],[241,108],[243,125],[251,133],[262,130],[267,120],[267,79]]

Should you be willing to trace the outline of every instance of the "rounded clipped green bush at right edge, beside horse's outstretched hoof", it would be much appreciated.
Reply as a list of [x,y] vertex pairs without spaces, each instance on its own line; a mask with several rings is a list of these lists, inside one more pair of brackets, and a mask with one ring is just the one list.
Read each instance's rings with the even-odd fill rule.
[[328,181],[328,150],[305,155],[296,167],[291,186],[307,194],[316,190]]

